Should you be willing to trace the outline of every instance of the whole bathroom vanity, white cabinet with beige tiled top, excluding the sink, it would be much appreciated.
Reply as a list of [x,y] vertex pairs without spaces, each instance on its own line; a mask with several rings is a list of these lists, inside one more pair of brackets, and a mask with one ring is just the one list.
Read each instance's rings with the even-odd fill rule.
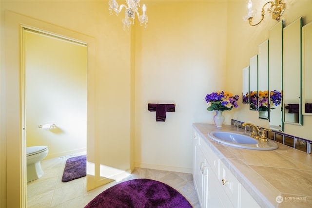
[[312,155],[278,144],[250,150],[216,142],[232,125],[193,124],[193,177],[202,208],[312,207]]

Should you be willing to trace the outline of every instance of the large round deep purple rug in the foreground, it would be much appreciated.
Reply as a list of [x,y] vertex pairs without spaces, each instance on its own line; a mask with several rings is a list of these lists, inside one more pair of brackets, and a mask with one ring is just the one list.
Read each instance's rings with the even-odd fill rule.
[[98,194],[85,208],[192,208],[176,189],[151,179],[125,181]]

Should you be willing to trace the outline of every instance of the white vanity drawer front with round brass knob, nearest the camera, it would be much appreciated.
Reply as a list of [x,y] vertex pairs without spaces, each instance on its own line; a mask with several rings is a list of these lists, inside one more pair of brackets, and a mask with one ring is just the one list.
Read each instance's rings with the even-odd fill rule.
[[241,184],[232,172],[220,162],[220,183],[235,208],[240,207]]

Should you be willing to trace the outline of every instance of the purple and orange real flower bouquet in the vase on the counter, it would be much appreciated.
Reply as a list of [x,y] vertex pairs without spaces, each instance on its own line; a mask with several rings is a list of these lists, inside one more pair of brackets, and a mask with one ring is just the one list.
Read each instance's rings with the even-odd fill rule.
[[210,104],[208,111],[231,111],[232,108],[237,108],[237,100],[239,95],[233,95],[228,91],[218,91],[206,95],[206,102]]

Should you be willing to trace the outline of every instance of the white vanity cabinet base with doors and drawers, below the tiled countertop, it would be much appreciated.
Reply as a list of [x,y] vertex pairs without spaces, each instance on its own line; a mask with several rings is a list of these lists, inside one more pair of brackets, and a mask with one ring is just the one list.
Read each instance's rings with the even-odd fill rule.
[[260,208],[205,140],[194,130],[193,177],[201,208]]

